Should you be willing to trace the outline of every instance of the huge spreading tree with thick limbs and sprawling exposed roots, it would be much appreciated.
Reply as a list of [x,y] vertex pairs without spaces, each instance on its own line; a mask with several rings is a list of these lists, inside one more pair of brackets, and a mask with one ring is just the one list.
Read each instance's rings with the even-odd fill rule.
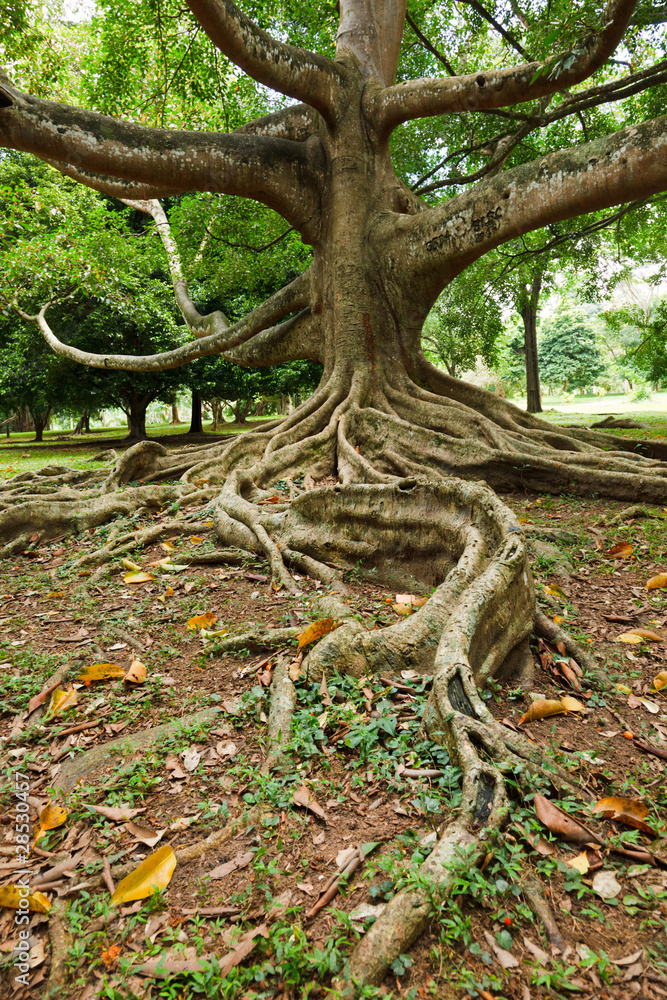
[[[448,744],[463,772],[461,811],[425,862],[423,878],[394,897],[351,957],[357,984],[377,982],[426,925],[434,900],[446,898],[461,858],[468,865],[486,852],[508,812],[503,766],[516,765],[520,780],[544,766],[521,737],[494,723],[477,693],[476,684],[521,649],[534,600],[520,526],[486,485],[463,480],[655,502],[667,494],[667,465],[658,461],[667,457],[664,446],[555,430],[435,368],[422,351],[422,327],[448,283],[490,250],[667,188],[667,118],[660,116],[666,65],[647,61],[658,43],[642,49],[636,42],[656,22],[634,0],[609,0],[603,10],[586,0],[576,16],[571,4],[537,3],[532,20],[519,12],[506,23],[497,20],[504,17],[499,5],[497,17],[490,15],[489,30],[501,29],[492,55],[472,39],[460,74],[414,19],[406,28],[404,0],[340,0],[335,41],[324,31],[321,52],[282,40],[298,35],[294,18],[270,34],[232,0],[187,6],[215,50],[300,103],[231,132],[188,131],[149,127],[138,112],[127,121],[53,103],[5,79],[0,143],[123,199],[155,202],[192,190],[254,199],[312,248],[312,264],[230,324],[220,311],[199,313],[172,253],[177,301],[194,339],[157,356],[77,351],[51,329],[48,302],[33,304],[35,322],[54,350],[91,366],[150,371],[214,353],[245,365],[311,359],[322,364],[322,381],[287,419],[226,447],[171,460],[155,447],[137,446],[117,463],[98,499],[92,475],[78,503],[59,503],[57,493],[50,503],[24,493],[20,506],[0,515],[0,530],[20,547],[37,525],[45,535],[74,523],[92,526],[117,509],[114,484],[139,478],[139,469],[145,479],[173,478],[178,468],[183,502],[215,492],[220,540],[263,552],[278,584],[296,588],[288,567],[335,582],[333,560],[361,562],[415,588],[435,587],[417,614],[390,629],[366,632],[348,614],[306,662],[311,678],[329,668],[362,673],[397,663],[431,670],[425,731]],[[431,21],[439,10],[429,8]],[[456,37],[458,10],[442,5],[445,42]],[[309,8],[302,37],[315,38],[316,14]],[[326,14],[333,14],[331,4]],[[271,7],[269,21],[274,16]],[[321,21],[325,28],[330,23]],[[429,75],[415,78],[424,70],[412,47],[400,63],[404,30],[411,44],[410,32],[426,38],[431,48],[421,51],[429,59],[435,51],[446,75],[433,75],[427,61]],[[623,40],[639,65],[625,75],[627,60],[612,62]],[[563,49],[553,54],[556,42]],[[244,79],[235,72],[234,79]],[[594,74],[597,80],[584,88]],[[590,108],[638,93],[649,97],[635,124],[614,131],[612,114],[593,141],[584,129],[563,144],[563,122],[585,123]],[[166,84],[163,96],[160,122],[168,120]],[[398,176],[392,137],[406,123],[446,116],[442,136],[447,121],[472,114],[501,121],[502,133],[490,146],[485,137],[490,155],[465,183],[459,174],[462,189],[432,203]],[[535,155],[530,136],[544,129],[551,147]],[[469,152],[474,165],[481,147],[473,142]],[[297,472],[313,480],[334,474],[339,485],[308,490],[268,513],[257,506],[266,488]],[[195,488],[200,481],[208,492]],[[160,503],[160,489],[166,487],[124,491],[123,509],[133,498],[137,505]],[[168,489],[173,496],[174,487]],[[333,595],[321,604],[345,620],[345,605]]]

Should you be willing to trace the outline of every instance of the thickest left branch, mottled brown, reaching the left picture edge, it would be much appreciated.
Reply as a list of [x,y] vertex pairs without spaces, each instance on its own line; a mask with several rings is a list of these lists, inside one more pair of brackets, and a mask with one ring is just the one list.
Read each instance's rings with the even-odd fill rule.
[[4,82],[0,99],[0,145],[10,149],[153,192],[196,189],[253,198],[300,231],[317,210],[317,143],[146,128],[42,101]]

